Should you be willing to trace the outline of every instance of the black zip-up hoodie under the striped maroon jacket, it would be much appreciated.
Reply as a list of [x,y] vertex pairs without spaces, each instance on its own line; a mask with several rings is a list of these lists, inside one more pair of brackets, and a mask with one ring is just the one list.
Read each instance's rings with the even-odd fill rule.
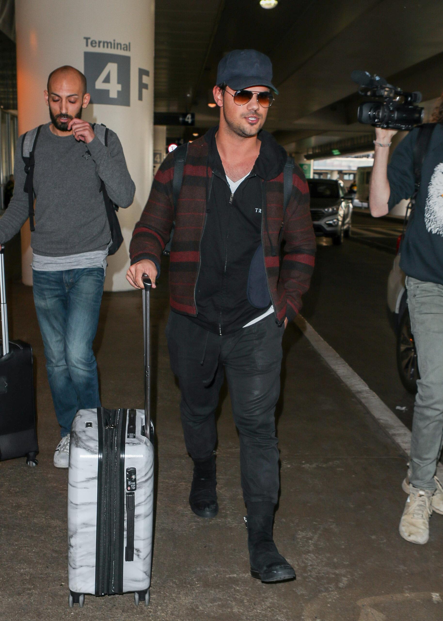
[[217,130],[214,127],[205,135],[212,178],[207,174],[207,217],[195,291],[197,317],[189,319],[210,332],[228,334],[271,306],[261,228],[266,215],[266,181],[282,173],[287,153],[262,130],[254,168],[231,195],[215,141]]

